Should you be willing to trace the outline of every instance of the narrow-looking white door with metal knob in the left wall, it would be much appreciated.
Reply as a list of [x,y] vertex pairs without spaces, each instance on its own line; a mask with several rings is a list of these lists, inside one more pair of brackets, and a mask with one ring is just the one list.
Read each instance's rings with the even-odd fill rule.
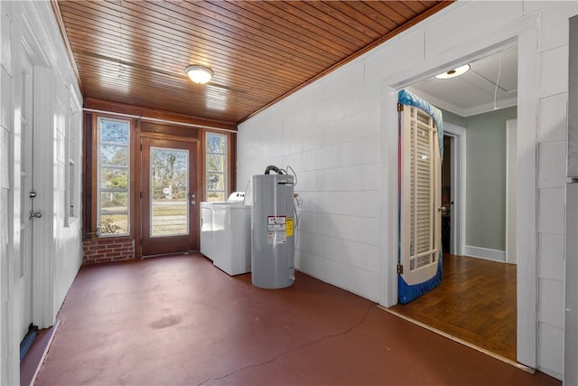
[[[28,333],[33,322],[33,63],[30,57],[23,55],[22,66],[22,108],[20,127],[21,147],[21,212],[20,212],[20,250],[19,294],[20,340]],[[40,214],[37,214],[40,215]]]

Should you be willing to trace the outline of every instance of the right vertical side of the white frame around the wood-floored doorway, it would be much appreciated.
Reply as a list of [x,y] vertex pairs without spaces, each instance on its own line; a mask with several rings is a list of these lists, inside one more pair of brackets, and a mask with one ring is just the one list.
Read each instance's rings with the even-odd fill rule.
[[[536,18],[536,16],[535,16]],[[537,28],[518,36],[517,73],[517,362],[537,362],[536,131],[540,52]]]

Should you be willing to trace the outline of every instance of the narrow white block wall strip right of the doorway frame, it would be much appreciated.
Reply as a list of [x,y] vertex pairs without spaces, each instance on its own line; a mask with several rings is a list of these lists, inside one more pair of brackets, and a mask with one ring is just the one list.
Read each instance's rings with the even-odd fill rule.
[[[575,2],[541,14],[537,146],[538,358],[560,378],[564,347],[564,202],[568,104],[568,23]],[[555,74],[555,76],[546,76]]]

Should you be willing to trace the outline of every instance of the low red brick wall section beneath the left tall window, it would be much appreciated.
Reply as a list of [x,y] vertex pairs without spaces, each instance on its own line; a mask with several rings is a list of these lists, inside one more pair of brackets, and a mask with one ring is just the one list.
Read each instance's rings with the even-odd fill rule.
[[99,239],[82,242],[83,264],[135,258],[135,240]]

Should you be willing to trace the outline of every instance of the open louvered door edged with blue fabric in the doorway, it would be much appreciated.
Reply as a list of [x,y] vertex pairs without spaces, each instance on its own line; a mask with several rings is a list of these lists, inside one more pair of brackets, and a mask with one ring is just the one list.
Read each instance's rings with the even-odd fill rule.
[[421,108],[400,111],[399,301],[436,287],[440,267],[441,159],[437,128]]

